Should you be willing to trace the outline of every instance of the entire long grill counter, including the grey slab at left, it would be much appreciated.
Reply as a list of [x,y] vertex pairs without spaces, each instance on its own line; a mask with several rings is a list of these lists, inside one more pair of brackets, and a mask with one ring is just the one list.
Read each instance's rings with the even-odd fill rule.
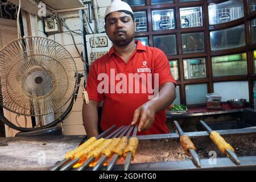
[[[120,134],[125,130],[132,135],[131,127],[123,127],[118,132]],[[108,132],[110,133],[110,130]],[[106,137],[109,133],[105,133],[105,136],[101,135],[100,137]],[[184,154],[179,134],[171,133],[138,136],[139,145],[129,169],[133,171],[256,169],[256,127],[218,130],[218,133],[221,134],[226,142],[232,145],[240,164],[236,164],[227,155],[222,154],[210,140],[207,131],[197,131],[185,133],[185,135],[188,135],[195,144],[196,154],[200,158],[200,167],[195,165],[191,156]],[[112,137],[113,135],[114,133],[112,133]],[[61,158],[63,159],[65,153],[77,147],[81,139],[81,136],[0,138],[0,169],[52,169],[56,163],[61,161]],[[44,165],[38,163],[39,151],[46,152],[47,162]],[[35,156],[35,158],[32,160],[31,156]],[[107,164],[111,160],[109,159],[106,162],[106,166],[101,168],[102,171],[108,168],[109,165]],[[125,163],[124,159],[118,159],[112,170],[122,171]],[[67,162],[62,167],[65,164]],[[93,168],[91,165],[84,168],[84,170],[91,171]],[[69,168],[69,170],[77,170],[77,168]]]

